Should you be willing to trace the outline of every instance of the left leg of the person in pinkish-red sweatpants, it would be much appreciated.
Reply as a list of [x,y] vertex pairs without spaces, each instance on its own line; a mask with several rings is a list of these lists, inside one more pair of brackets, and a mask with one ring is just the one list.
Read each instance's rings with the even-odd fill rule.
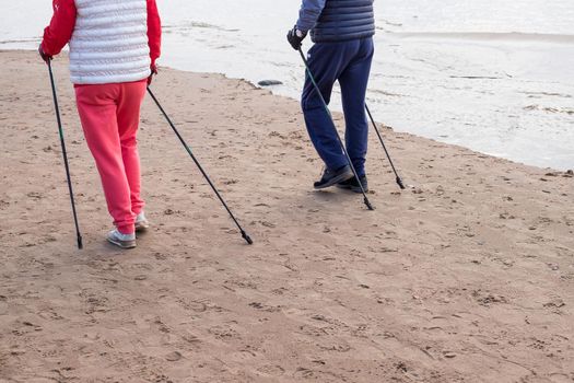
[[116,119],[117,84],[75,86],[78,112],[85,140],[94,156],[107,208],[121,233],[133,233],[130,189]]

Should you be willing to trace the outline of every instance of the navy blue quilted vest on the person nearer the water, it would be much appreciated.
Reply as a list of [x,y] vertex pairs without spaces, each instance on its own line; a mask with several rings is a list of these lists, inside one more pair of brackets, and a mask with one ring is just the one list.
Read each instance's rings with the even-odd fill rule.
[[311,38],[314,43],[331,43],[374,34],[373,0],[327,0]]

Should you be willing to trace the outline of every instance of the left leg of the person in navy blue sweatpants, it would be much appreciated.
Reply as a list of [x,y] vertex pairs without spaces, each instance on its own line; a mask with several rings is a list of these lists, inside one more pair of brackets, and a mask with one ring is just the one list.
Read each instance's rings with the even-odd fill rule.
[[[332,86],[342,69],[347,66],[345,44],[315,44],[308,53],[308,66],[323,97],[330,102]],[[315,91],[308,73],[301,102],[305,125],[311,140],[327,169],[336,171],[348,164],[341,146],[337,140],[335,126]]]

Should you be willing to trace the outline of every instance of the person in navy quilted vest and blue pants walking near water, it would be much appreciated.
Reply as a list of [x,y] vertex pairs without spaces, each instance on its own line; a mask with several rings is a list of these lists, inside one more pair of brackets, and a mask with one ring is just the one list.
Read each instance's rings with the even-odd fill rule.
[[[345,146],[365,192],[368,139],[365,93],[374,54],[373,1],[303,0],[298,21],[288,33],[289,43],[298,50],[311,32],[315,45],[307,54],[308,65],[327,103],[335,82],[339,81],[345,119]],[[337,140],[331,119],[308,74],[301,104],[311,140],[326,164],[315,188],[337,185],[360,193],[361,188]]]

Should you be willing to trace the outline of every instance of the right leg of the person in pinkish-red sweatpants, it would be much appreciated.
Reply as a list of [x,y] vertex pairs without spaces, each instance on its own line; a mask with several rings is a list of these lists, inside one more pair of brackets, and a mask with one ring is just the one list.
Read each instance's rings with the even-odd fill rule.
[[131,211],[139,214],[144,207],[141,199],[140,156],[137,134],[140,124],[140,107],[145,95],[145,81],[120,84],[117,121],[121,158],[130,188]]

